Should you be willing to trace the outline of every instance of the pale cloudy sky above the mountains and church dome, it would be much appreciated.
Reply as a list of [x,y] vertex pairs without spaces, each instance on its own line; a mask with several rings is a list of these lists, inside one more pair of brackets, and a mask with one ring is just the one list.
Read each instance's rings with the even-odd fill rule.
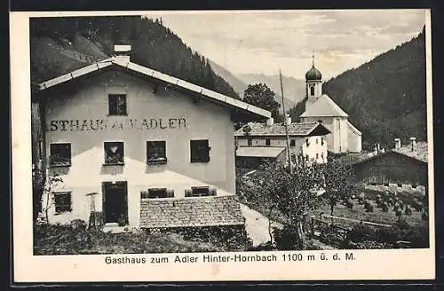
[[323,79],[359,67],[418,35],[424,10],[153,12],[186,45],[234,75]]

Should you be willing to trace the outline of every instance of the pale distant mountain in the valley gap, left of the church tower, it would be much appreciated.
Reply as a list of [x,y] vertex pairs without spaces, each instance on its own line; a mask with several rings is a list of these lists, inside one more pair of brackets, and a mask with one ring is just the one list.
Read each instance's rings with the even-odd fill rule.
[[[264,74],[242,74],[238,75],[243,83],[266,83],[271,90],[274,91],[277,101],[281,103],[281,83],[279,75],[264,75]],[[297,80],[293,77],[282,75],[283,94],[285,96],[286,109],[296,105],[298,101],[305,97],[305,81]]]

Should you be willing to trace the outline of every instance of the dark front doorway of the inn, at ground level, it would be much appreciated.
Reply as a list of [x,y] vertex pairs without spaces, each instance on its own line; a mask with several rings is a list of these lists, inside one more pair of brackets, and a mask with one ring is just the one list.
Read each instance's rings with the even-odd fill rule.
[[102,189],[105,223],[128,224],[127,182],[103,182]]

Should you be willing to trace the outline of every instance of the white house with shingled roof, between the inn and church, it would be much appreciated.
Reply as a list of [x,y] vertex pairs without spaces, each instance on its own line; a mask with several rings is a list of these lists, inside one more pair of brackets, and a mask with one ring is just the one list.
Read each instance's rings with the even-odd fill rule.
[[[326,136],[330,131],[318,122],[291,122],[286,119],[291,161],[297,158],[327,162]],[[284,123],[249,122],[236,130],[236,166],[256,169],[264,161],[288,163],[287,132]]]

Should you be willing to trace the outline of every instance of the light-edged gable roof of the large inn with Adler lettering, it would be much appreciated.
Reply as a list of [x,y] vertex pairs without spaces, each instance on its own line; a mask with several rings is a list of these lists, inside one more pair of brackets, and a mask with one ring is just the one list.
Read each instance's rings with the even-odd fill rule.
[[261,118],[270,118],[271,113],[269,111],[266,111],[262,108],[259,108],[257,106],[252,106],[248,103],[242,102],[241,100],[228,97],[226,95],[220,94],[218,92],[215,92],[213,90],[208,90],[203,87],[197,86],[193,83],[188,83],[184,80],[178,79],[176,77],[173,77],[171,75],[166,75],[161,72],[155,71],[154,69],[140,66],[136,63],[132,63],[129,59],[122,58],[122,57],[112,57],[109,59],[101,60],[97,63],[91,64],[86,67],[79,68],[73,72],[67,73],[65,75],[60,75],[58,77],[55,77],[51,80],[47,80],[43,83],[38,84],[37,90],[46,90],[48,88],[51,88],[53,86],[57,86],[61,83],[67,83],[68,81],[74,80],[80,76],[84,75],[90,75],[93,72],[98,72],[103,70],[107,67],[121,67],[136,73],[139,73],[141,75],[147,76],[149,78],[154,78],[159,81],[163,81],[165,83],[170,83],[178,88],[188,90],[194,93],[199,94],[200,96],[204,98],[208,98],[211,101],[216,101],[219,104],[222,104],[224,106],[230,106],[234,107],[235,109],[240,109],[241,111],[249,112],[250,114],[254,114]]

